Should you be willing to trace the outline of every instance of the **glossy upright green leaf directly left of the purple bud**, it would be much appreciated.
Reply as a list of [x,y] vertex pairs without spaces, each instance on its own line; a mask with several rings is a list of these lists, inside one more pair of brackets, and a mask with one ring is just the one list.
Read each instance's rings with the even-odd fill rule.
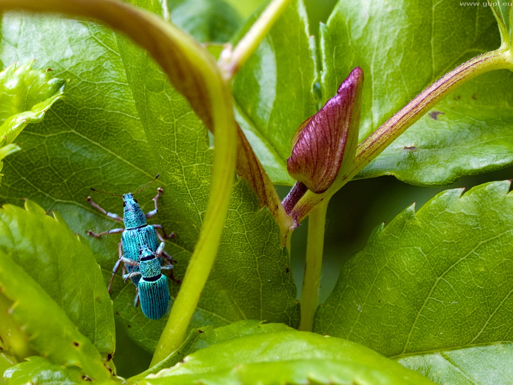
[[236,119],[273,183],[294,183],[286,165],[292,137],[318,109],[312,91],[317,81],[314,58],[308,17],[302,0],[295,0],[233,82]]

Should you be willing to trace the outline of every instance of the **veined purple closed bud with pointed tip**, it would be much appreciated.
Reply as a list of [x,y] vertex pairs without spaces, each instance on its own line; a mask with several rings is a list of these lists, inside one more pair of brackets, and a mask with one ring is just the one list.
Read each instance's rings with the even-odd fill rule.
[[356,67],[337,94],[294,134],[287,170],[292,178],[317,194],[326,191],[354,160],[362,85],[363,71]]

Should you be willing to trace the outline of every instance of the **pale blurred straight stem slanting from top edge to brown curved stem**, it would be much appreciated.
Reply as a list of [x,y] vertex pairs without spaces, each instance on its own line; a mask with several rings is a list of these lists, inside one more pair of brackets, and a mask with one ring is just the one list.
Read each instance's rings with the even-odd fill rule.
[[233,50],[227,48],[223,51],[219,66],[226,79],[233,78],[233,75],[248,60],[248,57],[257,49],[274,22],[280,17],[291,1],[272,0],[235,48]]

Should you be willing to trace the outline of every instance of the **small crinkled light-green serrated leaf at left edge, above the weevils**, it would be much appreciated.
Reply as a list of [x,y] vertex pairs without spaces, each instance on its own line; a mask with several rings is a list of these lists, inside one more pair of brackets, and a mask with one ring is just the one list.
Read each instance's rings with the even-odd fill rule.
[[66,86],[50,70],[32,69],[33,64],[13,64],[0,72],[0,171],[2,160],[19,150],[12,144],[19,132],[27,123],[40,122],[46,110],[62,98]]

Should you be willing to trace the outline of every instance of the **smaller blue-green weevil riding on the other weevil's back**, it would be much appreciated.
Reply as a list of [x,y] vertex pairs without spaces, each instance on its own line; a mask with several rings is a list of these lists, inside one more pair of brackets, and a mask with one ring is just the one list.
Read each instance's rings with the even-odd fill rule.
[[131,259],[122,258],[125,265],[136,267],[132,273],[123,275],[125,281],[140,277],[137,284],[137,297],[141,301],[141,310],[149,319],[160,319],[167,312],[169,300],[169,287],[167,285],[167,277],[162,274],[162,269],[172,269],[173,265],[161,265],[158,256],[164,251],[164,242],[155,252],[151,251],[148,246],[141,247],[139,262]]

